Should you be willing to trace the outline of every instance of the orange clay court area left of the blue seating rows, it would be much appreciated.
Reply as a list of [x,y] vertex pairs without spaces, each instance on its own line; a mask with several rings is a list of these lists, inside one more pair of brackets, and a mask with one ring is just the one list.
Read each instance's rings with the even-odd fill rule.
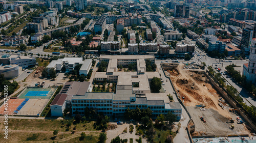
[[4,115],[6,113],[6,111],[8,111],[8,115],[13,115],[14,110],[16,110],[20,106],[20,104],[24,103],[24,101],[25,101],[25,99],[9,99],[7,110],[5,110],[5,107],[3,104],[0,107],[0,114]]

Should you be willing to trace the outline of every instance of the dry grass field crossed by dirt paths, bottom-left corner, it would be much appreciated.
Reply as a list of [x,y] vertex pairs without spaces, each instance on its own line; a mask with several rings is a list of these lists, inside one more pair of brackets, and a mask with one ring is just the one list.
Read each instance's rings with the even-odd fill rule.
[[[0,121],[3,122],[3,119]],[[100,131],[93,129],[93,124],[94,122],[71,124],[67,130],[66,120],[9,119],[7,142],[97,142]],[[4,126],[0,127],[2,130],[0,137],[4,138]],[[76,127],[75,130],[73,130],[74,127]],[[58,130],[55,139],[52,138],[54,130]],[[86,133],[86,137],[80,141],[79,137],[82,131]]]

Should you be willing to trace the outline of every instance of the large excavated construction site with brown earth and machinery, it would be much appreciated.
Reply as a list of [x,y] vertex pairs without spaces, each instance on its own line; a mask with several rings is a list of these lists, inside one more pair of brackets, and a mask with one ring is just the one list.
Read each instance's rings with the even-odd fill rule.
[[163,66],[195,123],[192,136],[248,135],[243,119],[210,84],[205,71],[184,64]]

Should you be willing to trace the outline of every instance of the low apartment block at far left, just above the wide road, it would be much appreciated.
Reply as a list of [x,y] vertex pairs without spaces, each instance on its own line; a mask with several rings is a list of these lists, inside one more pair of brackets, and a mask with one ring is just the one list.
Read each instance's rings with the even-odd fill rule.
[[26,44],[25,36],[5,36],[3,37],[3,42],[5,46],[18,46],[20,44]]

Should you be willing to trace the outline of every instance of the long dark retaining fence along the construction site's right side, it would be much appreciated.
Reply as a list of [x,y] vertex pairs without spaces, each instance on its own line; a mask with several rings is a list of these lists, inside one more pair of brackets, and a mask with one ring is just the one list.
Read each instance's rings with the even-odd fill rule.
[[[250,119],[245,115],[244,111],[241,110],[237,105],[239,105],[239,103],[236,101],[236,99],[234,99],[231,95],[228,94],[228,92],[226,91],[226,89],[224,87],[222,87],[220,85],[220,87],[217,85],[217,83],[219,83],[219,81],[217,81],[215,79],[215,77],[213,77],[212,75],[210,75],[210,73],[207,70],[207,73],[204,73],[207,78],[209,79],[210,83],[215,87],[215,89],[222,95],[223,98],[225,98],[225,100],[229,103],[230,106],[232,106],[234,109],[238,109],[239,110],[239,114],[240,116],[243,117],[243,119],[247,122],[247,124],[250,126],[250,128],[254,131],[256,131],[256,126],[250,121]],[[209,75],[208,75],[209,74]],[[212,78],[211,78],[212,77]],[[214,80],[215,81],[214,81]],[[216,83],[217,82],[217,83]],[[240,106],[240,105],[239,105]]]

